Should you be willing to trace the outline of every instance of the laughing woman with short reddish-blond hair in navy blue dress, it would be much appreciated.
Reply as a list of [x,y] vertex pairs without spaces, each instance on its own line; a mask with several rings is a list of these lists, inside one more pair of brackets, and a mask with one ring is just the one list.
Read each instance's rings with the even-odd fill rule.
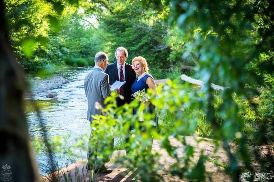
[[[135,73],[138,74],[138,77],[136,78],[136,80],[134,81],[131,87],[132,93],[135,93],[138,90],[144,90],[144,89],[147,90],[148,88],[150,88],[153,91],[154,95],[156,95],[157,94],[156,84],[154,82],[154,78],[150,74],[148,74],[148,64],[146,62],[146,59],[141,56],[134,57],[132,59],[132,68],[134,69]],[[148,108],[150,113],[155,113],[155,106],[153,106],[151,103],[149,103]],[[157,126],[158,117],[156,113],[155,113],[155,123]],[[144,128],[141,128],[141,130],[145,131]],[[152,142],[153,142],[153,137],[151,141],[151,146],[148,149],[149,152],[151,152]]]

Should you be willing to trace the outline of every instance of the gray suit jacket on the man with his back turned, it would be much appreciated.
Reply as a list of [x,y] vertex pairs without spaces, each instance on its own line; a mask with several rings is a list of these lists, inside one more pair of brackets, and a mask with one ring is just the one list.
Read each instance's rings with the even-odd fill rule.
[[101,109],[96,109],[95,103],[98,102],[105,107],[104,100],[110,95],[109,78],[106,73],[99,68],[93,68],[90,73],[85,76],[84,88],[86,97],[88,98],[88,114],[87,120],[95,120],[91,115],[101,115]]

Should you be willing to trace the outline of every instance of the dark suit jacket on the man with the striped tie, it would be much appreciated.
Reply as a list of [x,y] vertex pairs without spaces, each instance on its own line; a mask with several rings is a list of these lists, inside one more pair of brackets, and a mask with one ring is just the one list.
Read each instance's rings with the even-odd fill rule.
[[[126,83],[123,85],[125,91],[125,99],[121,100],[120,98],[116,99],[117,105],[122,106],[125,102],[130,103],[133,98],[131,86],[136,79],[136,73],[132,69],[132,66],[128,63],[125,63],[125,81]],[[112,63],[106,67],[105,73],[109,75],[109,84],[112,85],[116,80],[119,81],[118,77],[118,69],[117,69],[117,62]]]

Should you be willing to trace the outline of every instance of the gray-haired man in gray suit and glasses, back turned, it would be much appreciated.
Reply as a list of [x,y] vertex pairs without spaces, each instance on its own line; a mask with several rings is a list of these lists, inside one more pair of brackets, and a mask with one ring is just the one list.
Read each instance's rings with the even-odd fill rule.
[[[108,74],[104,73],[108,65],[108,56],[104,52],[98,52],[94,58],[95,66],[90,73],[85,76],[84,79],[84,89],[86,97],[88,98],[88,113],[87,120],[90,124],[95,120],[92,115],[101,115],[101,109],[98,105],[104,107],[104,100],[110,95],[110,85]],[[115,89],[117,93],[120,89]],[[95,106],[97,105],[97,107]],[[92,135],[90,135],[92,138]],[[99,141],[97,141],[99,142]],[[93,154],[92,146],[88,144],[88,163],[86,169],[94,169],[96,172],[112,172],[112,169],[107,169],[104,164],[96,164],[96,156]],[[100,149],[95,149],[100,150]],[[94,156],[93,156],[94,155]],[[93,159],[92,160],[92,156]],[[99,163],[99,162],[97,162]]]

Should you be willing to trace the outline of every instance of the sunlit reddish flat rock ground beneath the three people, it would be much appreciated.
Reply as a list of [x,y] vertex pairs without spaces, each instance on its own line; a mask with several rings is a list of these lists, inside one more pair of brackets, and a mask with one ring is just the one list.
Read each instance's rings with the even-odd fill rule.
[[[178,147],[178,156],[182,157],[184,155],[185,146],[171,136],[169,137],[169,139],[172,146]],[[197,143],[197,140],[199,139],[205,139],[206,141]],[[194,161],[197,161],[199,159],[201,150],[204,150],[204,155],[210,156],[210,158],[212,158],[213,160],[219,158],[219,162],[221,162],[222,164],[228,162],[227,157],[225,155],[225,151],[223,149],[219,149],[214,154],[213,151],[215,149],[215,146],[211,139],[187,136],[186,143],[195,147]],[[158,152],[162,155],[159,160],[159,163],[163,164],[164,166],[164,168],[159,170],[158,173],[163,177],[164,181],[183,181],[180,180],[177,176],[170,175],[170,173],[168,172],[169,166],[176,162],[176,160],[174,158],[171,158],[166,152],[166,150],[162,149],[160,146],[160,141],[154,140],[152,152]],[[110,162],[105,164],[106,167],[112,168],[113,172],[96,174],[95,181],[134,181],[136,175],[138,175],[136,171],[130,171],[129,169],[119,166],[115,163],[115,159],[117,157],[123,156],[125,154],[125,150],[115,151],[112,155]],[[85,169],[86,162],[87,160],[81,160],[75,162],[74,164],[70,164],[66,167],[63,167],[59,170],[59,175],[62,176],[61,178],[64,180],[64,175],[61,175],[61,171],[63,171],[66,174],[66,176],[68,176],[68,173],[71,174],[70,176],[72,181],[78,181],[76,179],[80,179],[80,181],[91,181],[92,177],[90,174],[90,170],[87,171]],[[223,167],[216,166],[214,163],[209,161],[206,161],[204,165],[212,181],[231,181],[229,176],[224,173]],[[49,175],[42,177],[43,181],[48,181],[48,177]]]

